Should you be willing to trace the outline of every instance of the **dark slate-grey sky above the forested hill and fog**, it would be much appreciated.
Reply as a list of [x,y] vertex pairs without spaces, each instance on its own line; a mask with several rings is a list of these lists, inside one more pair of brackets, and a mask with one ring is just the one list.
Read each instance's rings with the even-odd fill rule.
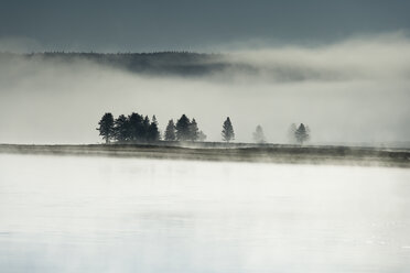
[[[410,29],[406,0],[1,0],[0,50],[219,51]],[[15,42],[18,41],[18,42]]]

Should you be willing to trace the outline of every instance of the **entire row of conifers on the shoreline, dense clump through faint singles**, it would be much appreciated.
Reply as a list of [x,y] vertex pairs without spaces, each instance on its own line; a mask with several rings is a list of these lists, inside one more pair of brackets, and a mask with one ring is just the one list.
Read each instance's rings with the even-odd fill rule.
[[[161,133],[158,127],[155,116],[152,116],[150,120],[148,116],[132,112],[128,117],[120,114],[117,119],[114,119],[110,112],[102,116],[98,122],[99,135],[109,143],[110,141],[117,142],[155,142],[161,140]],[[263,129],[261,125],[257,125],[253,132],[253,141],[256,143],[266,143]],[[303,142],[310,139],[309,127],[301,123],[299,127],[292,123],[289,129],[289,140],[291,143],[303,144]],[[223,123],[222,138],[226,142],[235,140],[234,127],[230,118],[227,117]],[[168,122],[163,140],[165,141],[205,141],[206,134],[198,129],[196,120],[192,120],[182,114],[180,119],[170,120]]]

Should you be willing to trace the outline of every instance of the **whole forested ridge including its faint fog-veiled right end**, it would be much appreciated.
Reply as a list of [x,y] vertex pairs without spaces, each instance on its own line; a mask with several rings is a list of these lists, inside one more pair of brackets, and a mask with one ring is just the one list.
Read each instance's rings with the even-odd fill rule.
[[[220,79],[230,78],[263,78],[278,83],[303,80],[341,80],[346,74],[334,69],[323,69],[321,66],[304,66],[266,62],[263,64],[242,59],[235,54],[206,54],[191,52],[158,52],[158,53],[65,53],[46,52],[32,54],[1,53],[0,63],[4,66],[19,61],[50,62],[53,64],[91,62],[97,65],[115,67],[131,73],[147,75],[174,75],[187,77],[216,76]],[[36,63],[34,63],[37,65]],[[238,77],[239,76],[239,77]],[[347,75],[348,76],[348,75]],[[348,78],[348,77],[347,77]]]

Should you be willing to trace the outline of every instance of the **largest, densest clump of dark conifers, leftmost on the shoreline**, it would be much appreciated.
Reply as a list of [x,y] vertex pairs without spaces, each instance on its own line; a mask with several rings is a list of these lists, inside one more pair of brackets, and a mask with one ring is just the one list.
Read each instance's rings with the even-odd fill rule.
[[98,122],[97,130],[99,135],[109,143],[111,140],[118,142],[154,142],[160,140],[160,131],[155,116],[152,120],[148,116],[143,117],[132,112],[128,117],[120,114],[114,119],[112,113],[107,112]]

